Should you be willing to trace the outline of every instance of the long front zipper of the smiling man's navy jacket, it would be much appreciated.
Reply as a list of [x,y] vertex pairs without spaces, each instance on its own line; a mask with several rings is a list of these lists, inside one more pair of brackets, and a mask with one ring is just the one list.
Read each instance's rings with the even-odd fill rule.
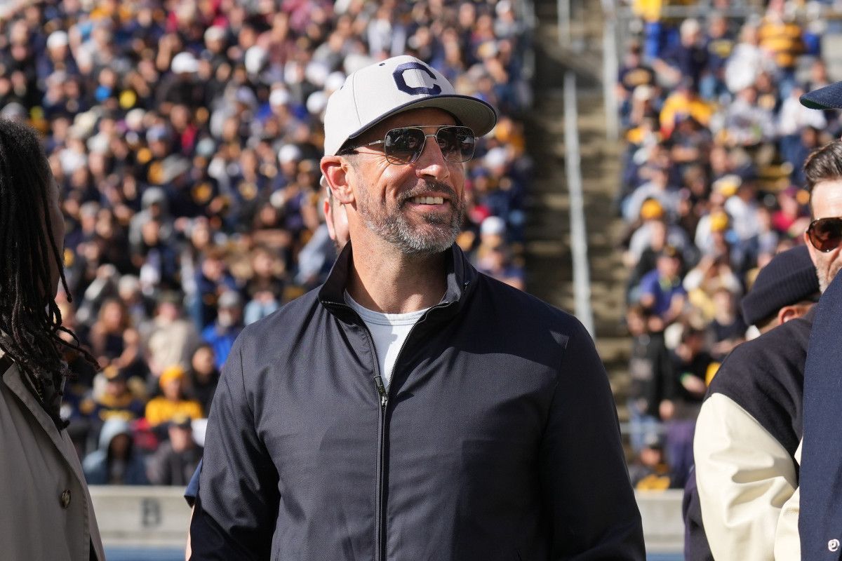
[[[383,485],[383,473],[386,468],[386,407],[389,405],[389,388],[392,387],[392,384],[389,384],[389,388],[386,388],[386,384],[383,383],[383,378],[381,377],[380,372],[380,359],[377,357],[377,347],[374,344],[374,336],[371,335],[371,331],[368,328],[368,325],[365,325],[365,321],[362,320],[359,314],[354,311],[348,304],[343,304],[341,302],[325,302],[325,304],[332,304],[335,306],[341,306],[343,308],[347,308],[354,312],[354,315],[357,315],[357,319],[360,320],[360,324],[365,329],[365,334],[368,336],[369,345],[371,346],[371,351],[374,352],[375,361],[374,361],[374,369],[375,369],[375,376],[374,376],[374,384],[377,390],[377,396],[380,398],[380,422],[377,424],[377,468],[376,468],[376,477],[377,477],[377,496],[376,496],[376,503],[375,503],[375,550],[374,550],[374,561],[384,561],[386,558],[386,502],[384,497],[384,485]],[[401,355],[403,354],[403,349],[407,346],[407,341],[413,335],[413,331],[415,328],[427,320],[427,316],[432,310],[437,310],[439,308],[444,308],[445,306],[450,305],[450,302],[442,302],[440,304],[434,305],[432,308],[427,310],[427,312],[421,316],[421,318],[415,322],[415,325],[410,328],[409,332],[407,333],[406,338],[403,340],[401,344],[401,348],[397,351],[397,356],[395,357],[395,366],[400,361]],[[395,378],[395,370],[392,369],[392,379]]]

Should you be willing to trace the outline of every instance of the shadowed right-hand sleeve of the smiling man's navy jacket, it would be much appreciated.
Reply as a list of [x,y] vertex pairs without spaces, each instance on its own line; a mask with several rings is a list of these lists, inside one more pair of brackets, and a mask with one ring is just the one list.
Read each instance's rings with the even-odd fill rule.
[[562,358],[540,463],[554,561],[645,558],[616,406],[581,325]]

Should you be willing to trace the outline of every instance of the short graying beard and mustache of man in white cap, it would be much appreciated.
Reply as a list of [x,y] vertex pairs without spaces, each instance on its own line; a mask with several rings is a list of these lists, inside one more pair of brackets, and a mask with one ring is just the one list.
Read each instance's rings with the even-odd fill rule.
[[[421,214],[427,225],[435,226],[433,232],[416,229],[401,212],[409,199],[425,191],[446,193],[454,207],[450,220],[440,214]],[[376,208],[368,196],[370,191],[367,185],[363,186],[359,193],[365,193],[357,199],[357,212],[360,213],[365,227],[397,246],[404,255],[424,256],[441,253],[450,248],[456,241],[456,236],[459,236],[462,217],[465,214],[465,201],[458,198],[456,192],[445,183],[427,181],[421,188],[402,193],[397,200],[397,209]]]

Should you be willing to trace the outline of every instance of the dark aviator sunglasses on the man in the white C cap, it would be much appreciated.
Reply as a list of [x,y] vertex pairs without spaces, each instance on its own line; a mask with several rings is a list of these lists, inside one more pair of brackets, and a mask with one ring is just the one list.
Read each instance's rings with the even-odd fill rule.
[[434,135],[424,133],[419,127],[401,127],[386,132],[383,140],[375,140],[368,144],[339,151],[339,154],[351,154],[356,148],[363,146],[383,145],[383,153],[390,164],[411,164],[418,160],[427,138],[432,136],[439,143],[439,148],[445,160],[453,163],[468,161],[473,157],[474,147],[477,145],[477,135],[469,127],[447,124],[439,127]]

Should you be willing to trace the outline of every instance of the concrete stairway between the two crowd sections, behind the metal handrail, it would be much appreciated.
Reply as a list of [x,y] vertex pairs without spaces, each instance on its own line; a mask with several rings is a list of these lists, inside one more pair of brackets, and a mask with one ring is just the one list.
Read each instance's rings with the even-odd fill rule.
[[527,119],[528,148],[536,161],[529,221],[526,266],[529,290],[562,310],[573,312],[573,271],[570,256],[568,188],[564,167],[564,71],[577,74],[579,142],[588,230],[591,305],[597,349],[609,371],[621,416],[627,387],[629,341],[622,327],[623,294],[628,272],[616,242],[622,222],[613,201],[620,177],[621,143],[605,136],[601,86],[602,8],[599,0],[571,3],[571,35],[584,47],[575,53],[559,47],[557,3],[535,3],[535,106]]

